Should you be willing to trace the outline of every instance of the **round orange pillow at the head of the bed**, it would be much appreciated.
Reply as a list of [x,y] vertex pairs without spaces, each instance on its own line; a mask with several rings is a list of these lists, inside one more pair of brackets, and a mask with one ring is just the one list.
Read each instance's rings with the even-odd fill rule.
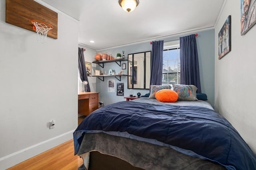
[[179,98],[178,93],[170,89],[159,90],[155,96],[159,102],[176,102]]

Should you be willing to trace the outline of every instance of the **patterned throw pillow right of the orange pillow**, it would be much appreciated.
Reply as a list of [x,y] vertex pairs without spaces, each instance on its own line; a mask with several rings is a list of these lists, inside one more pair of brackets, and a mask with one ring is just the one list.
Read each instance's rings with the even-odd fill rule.
[[194,85],[174,84],[173,90],[178,93],[178,100],[196,101],[197,87]]

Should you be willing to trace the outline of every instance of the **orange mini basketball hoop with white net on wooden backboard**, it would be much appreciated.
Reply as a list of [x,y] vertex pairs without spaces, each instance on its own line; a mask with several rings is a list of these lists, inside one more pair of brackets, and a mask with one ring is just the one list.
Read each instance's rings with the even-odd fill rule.
[[53,26],[49,23],[39,20],[31,20],[33,29],[36,30],[37,42],[46,43],[47,32],[53,29]]

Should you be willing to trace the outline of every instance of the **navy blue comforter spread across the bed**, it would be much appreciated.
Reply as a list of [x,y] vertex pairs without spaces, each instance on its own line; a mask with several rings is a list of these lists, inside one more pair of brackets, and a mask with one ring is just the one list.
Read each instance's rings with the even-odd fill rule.
[[[196,106],[117,102],[88,115],[74,132],[75,154],[84,133],[138,137],[227,169],[256,170],[256,156],[219,113]],[[129,135],[124,135],[129,134]]]

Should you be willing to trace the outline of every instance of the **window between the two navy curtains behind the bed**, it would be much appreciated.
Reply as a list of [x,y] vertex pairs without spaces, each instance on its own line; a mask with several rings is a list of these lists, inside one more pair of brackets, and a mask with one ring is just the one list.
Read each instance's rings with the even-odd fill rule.
[[162,84],[180,84],[180,41],[164,44]]

